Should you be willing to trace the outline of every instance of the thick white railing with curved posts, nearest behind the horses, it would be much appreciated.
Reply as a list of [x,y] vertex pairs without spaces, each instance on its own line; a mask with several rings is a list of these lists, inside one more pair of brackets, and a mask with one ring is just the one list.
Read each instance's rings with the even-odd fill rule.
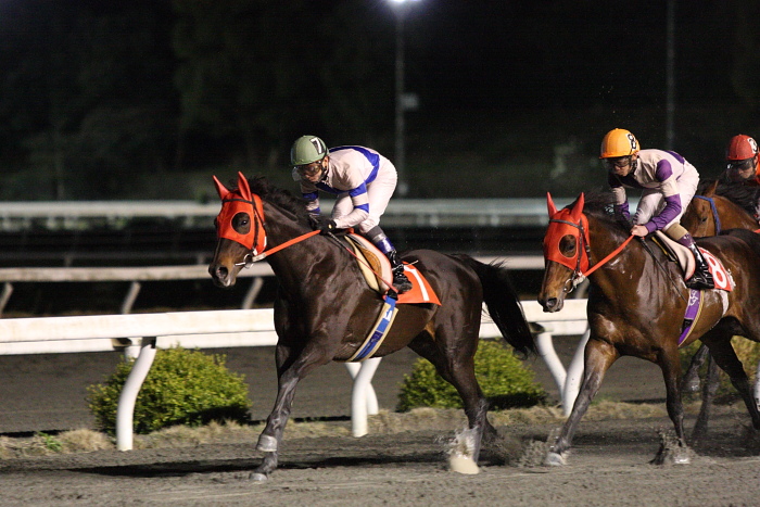
[[[559,388],[562,404],[572,406],[577,390],[568,389],[580,375],[570,372],[557,357],[554,334],[580,334],[585,329],[585,300],[570,300],[557,314],[544,314],[535,302],[523,302],[525,317],[543,327],[536,341]],[[493,322],[484,320],[481,338],[498,337]],[[136,338],[138,337],[138,338]],[[50,354],[139,350],[137,360],[119,396],[116,415],[118,449],[132,447],[132,418],[140,386],[153,363],[156,348],[180,345],[188,348],[275,345],[271,309],[173,312],[139,315],[92,315],[79,317],[36,317],[0,319],[0,354]],[[577,353],[575,356],[579,354]],[[354,377],[352,433],[367,433],[367,415],[377,414],[377,396],[371,379],[380,359],[346,364]],[[581,362],[582,368],[582,362]],[[572,400],[571,400],[572,397]]]

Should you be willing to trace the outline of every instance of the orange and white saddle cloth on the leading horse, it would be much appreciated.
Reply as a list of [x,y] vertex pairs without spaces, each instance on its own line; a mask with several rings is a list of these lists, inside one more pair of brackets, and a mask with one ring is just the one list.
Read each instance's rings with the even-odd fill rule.
[[[370,289],[385,294],[389,287],[385,280],[393,280],[391,262],[371,241],[356,233],[345,236],[356,254],[359,269]],[[377,274],[377,275],[376,275]],[[404,263],[404,274],[411,282],[411,290],[398,294],[400,304],[432,303],[441,306],[435,291],[425,276],[414,265]],[[379,275],[379,276],[378,276]]]

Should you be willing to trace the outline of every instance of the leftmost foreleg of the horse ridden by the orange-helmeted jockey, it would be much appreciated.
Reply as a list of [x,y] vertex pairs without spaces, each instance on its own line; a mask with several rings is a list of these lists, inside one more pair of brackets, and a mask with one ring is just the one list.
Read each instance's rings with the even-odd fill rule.
[[586,343],[583,382],[575,397],[570,417],[562,424],[557,441],[549,448],[545,465],[558,466],[566,464],[566,453],[570,448],[578,424],[588,409],[594,396],[599,391],[601,380],[609,367],[619,357],[618,351],[609,343],[591,339]]

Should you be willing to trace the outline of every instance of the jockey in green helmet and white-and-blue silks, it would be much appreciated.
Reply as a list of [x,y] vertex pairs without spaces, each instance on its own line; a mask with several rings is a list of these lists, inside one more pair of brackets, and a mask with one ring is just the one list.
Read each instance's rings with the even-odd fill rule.
[[[391,262],[398,293],[411,289],[396,249],[380,228],[380,216],[396,188],[394,165],[377,151],[344,145],[327,149],[316,136],[302,136],[290,151],[293,179],[301,183],[306,208],[322,232],[355,227]],[[331,217],[322,217],[319,190],[338,197]]]

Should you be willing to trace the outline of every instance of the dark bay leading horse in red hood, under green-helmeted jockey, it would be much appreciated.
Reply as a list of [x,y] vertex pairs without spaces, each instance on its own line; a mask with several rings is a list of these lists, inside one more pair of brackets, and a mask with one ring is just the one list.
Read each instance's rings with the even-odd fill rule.
[[[214,181],[221,199],[215,220],[218,242],[208,266],[214,282],[223,288],[235,286],[243,266],[269,252],[266,258],[279,282],[275,300],[277,400],[256,446],[264,458],[251,476],[263,481],[277,468],[296,384],[318,366],[350,359],[377,320],[383,299],[364,281],[357,262],[334,237],[313,230],[303,200],[263,177],[248,180],[238,173],[237,187],[231,189],[216,177]],[[473,435],[477,464],[483,436],[495,435],[474,376],[482,304],[485,302],[516,351],[535,353],[522,306],[501,265],[431,250],[413,250],[403,259],[422,272],[441,305],[398,304],[391,330],[375,356],[408,346],[456,388]]]

